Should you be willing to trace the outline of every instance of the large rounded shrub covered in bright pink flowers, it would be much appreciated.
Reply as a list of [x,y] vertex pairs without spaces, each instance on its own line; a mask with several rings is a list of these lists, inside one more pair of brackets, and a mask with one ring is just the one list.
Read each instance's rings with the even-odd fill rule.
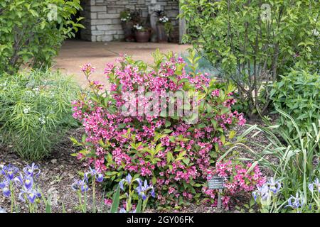
[[[232,86],[196,73],[198,59],[191,59],[193,72],[186,74],[181,57],[155,52],[154,58],[152,67],[126,56],[117,65],[108,63],[105,74],[110,79],[110,92],[104,91],[100,82],[90,80],[94,67],[89,64],[82,68],[91,92],[73,103],[73,116],[82,122],[86,135],[81,143],[73,141],[85,148],[78,158],[105,172],[105,179],[112,185],[128,173],[151,178],[157,202],[178,206],[184,199],[201,196],[208,170],[214,169],[221,148],[235,135],[231,131],[227,137],[228,129],[244,125],[245,118],[231,111],[235,104]],[[135,92],[136,99],[128,101],[127,92]],[[142,94],[148,92],[168,101],[164,105],[166,113],[154,114],[157,104],[153,114],[146,111],[151,102]],[[175,102],[170,92],[188,92],[193,100]],[[156,101],[154,96],[151,101]],[[124,112],[128,102],[138,110]],[[167,111],[173,109],[190,111],[191,104],[191,114],[168,116]]]

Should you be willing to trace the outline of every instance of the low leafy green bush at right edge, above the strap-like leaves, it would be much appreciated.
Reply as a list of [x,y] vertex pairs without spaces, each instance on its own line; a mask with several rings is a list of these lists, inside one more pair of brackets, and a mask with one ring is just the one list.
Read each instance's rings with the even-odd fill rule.
[[[320,74],[303,70],[292,70],[272,85],[271,99],[277,109],[284,111],[295,119],[302,136],[305,137],[312,128],[312,123],[320,119]],[[297,131],[292,121],[279,116],[279,126],[292,140],[297,140]]]

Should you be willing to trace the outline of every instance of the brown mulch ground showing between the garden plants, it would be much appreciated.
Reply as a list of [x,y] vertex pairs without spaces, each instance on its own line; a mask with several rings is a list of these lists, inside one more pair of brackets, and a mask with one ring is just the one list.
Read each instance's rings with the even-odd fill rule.
[[[248,121],[248,124],[259,124],[262,123],[260,121]],[[237,134],[240,135],[243,131],[245,131],[247,127],[235,127],[234,130],[237,131]],[[79,162],[75,157],[71,156],[72,153],[75,153],[78,148],[73,146],[70,142],[69,137],[73,136],[75,138],[80,139],[83,131],[81,129],[77,129],[68,133],[65,136],[65,139],[55,147],[51,157],[42,160],[41,162],[36,162],[37,165],[41,167],[41,175],[37,179],[37,183],[43,194],[48,196],[51,194],[53,196],[53,211],[61,212],[62,211],[62,202],[65,206],[66,211],[68,212],[77,212],[78,206],[78,197],[71,189],[71,184],[74,179],[79,178],[78,172],[85,171],[85,167],[83,167],[82,163]],[[268,141],[264,135],[257,135],[254,138],[250,138],[250,140],[254,140],[256,143],[267,145]],[[255,145],[249,145],[252,150],[260,151],[261,148]],[[238,153],[241,154],[241,157],[252,157],[249,153],[245,151],[245,149],[238,149]],[[0,146],[0,165],[13,164],[22,169],[27,162],[21,160],[20,157],[16,155],[10,148],[4,148]],[[265,174],[270,175],[270,172],[265,172]],[[88,192],[91,194],[91,191]],[[102,204],[102,188],[97,189],[97,201]],[[88,210],[92,205],[92,201],[90,200],[92,196],[88,196]],[[228,212],[238,212],[235,209],[235,206],[242,206],[242,204],[246,204],[250,199],[250,195],[243,194],[239,195],[238,198],[234,198],[230,201],[230,210]],[[5,199],[2,194],[0,195],[0,207],[10,210],[10,204],[8,199]],[[21,211],[27,211],[26,207],[23,207]],[[175,210],[171,210],[175,211]],[[154,209],[150,209],[148,212],[156,212]],[[226,212],[225,210],[218,210],[215,207],[211,207],[208,204],[196,205],[192,204],[191,206],[183,207],[182,209],[176,210],[176,212],[201,212],[201,213],[211,213],[211,212]]]

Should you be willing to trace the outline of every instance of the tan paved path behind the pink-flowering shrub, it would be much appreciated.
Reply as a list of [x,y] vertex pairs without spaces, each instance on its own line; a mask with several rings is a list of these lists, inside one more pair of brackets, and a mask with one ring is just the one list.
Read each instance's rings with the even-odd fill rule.
[[119,54],[131,55],[134,60],[153,62],[151,52],[159,48],[161,52],[173,51],[176,53],[186,52],[190,45],[178,45],[176,43],[90,43],[81,40],[65,41],[60,54],[55,58],[54,69],[60,69],[66,74],[73,74],[75,80],[81,85],[86,84],[85,77],[80,72],[80,65],[91,62],[96,67],[92,79],[107,83],[103,71],[107,62],[114,62]]

